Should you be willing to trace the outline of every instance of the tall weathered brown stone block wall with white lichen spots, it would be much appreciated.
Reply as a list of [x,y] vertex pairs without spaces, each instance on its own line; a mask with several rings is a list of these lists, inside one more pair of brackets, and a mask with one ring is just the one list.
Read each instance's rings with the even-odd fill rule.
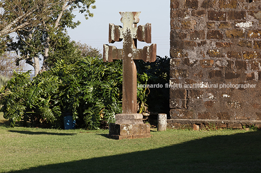
[[261,120],[261,0],[170,8],[171,119]]

